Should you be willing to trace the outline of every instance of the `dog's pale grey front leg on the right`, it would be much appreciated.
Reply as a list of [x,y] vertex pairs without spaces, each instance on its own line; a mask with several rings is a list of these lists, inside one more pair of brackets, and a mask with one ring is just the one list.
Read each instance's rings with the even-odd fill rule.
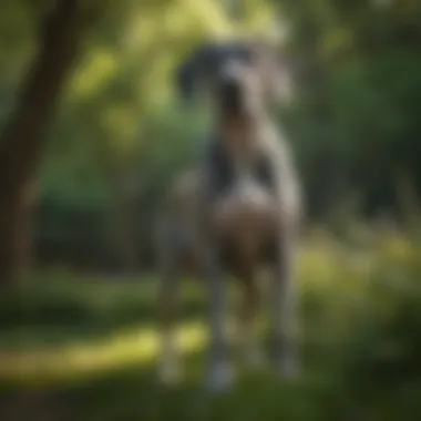
[[301,196],[288,151],[279,146],[269,151],[268,173],[277,202],[278,219],[271,298],[274,357],[279,373],[291,377],[298,372],[299,315],[295,260]]

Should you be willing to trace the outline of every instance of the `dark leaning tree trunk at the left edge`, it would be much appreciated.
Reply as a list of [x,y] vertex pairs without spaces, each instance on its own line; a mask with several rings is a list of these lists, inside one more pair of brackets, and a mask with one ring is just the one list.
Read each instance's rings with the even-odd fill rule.
[[31,186],[60,93],[76,57],[82,2],[55,0],[39,51],[0,137],[0,281],[13,284],[28,261]]

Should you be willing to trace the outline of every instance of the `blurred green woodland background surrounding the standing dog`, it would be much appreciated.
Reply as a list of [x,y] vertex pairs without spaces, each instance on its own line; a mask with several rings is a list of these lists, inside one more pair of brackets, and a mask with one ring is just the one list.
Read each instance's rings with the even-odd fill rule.
[[[306,367],[212,398],[191,279],[186,380],[155,384],[153,226],[208,122],[175,68],[236,33],[292,63]],[[0,58],[2,420],[420,419],[419,0],[2,0]]]

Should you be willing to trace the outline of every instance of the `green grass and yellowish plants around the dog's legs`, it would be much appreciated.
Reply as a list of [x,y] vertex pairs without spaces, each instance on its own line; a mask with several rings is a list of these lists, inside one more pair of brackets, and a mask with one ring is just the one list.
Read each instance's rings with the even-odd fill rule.
[[[305,370],[238,367],[222,396],[201,387],[206,329],[201,286],[183,286],[184,381],[154,369],[156,283],[65,271],[0,297],[1,420],[419,420],[421,247],[401,235],[358,246],[317,235],[302,246]],[[234,297],[234,291],[233,291]],[[2,412],[1,412],[2,411]]]

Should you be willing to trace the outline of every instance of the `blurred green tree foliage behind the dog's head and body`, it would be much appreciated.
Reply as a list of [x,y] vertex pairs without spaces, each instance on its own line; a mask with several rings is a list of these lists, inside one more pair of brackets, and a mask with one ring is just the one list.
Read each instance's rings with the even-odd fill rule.
[[[41,168],[34,216],[41,261],[80,265],[79,249],[92,250],[90,266],[119,266],[119,213],[132,203],[131,247],[150,263],[150,222],[174,175],[193,163],[206,127],[205,103],[186,110],[174,97],[175,66],[204,39],[263,33],[275,23],[287,33],[297,82],[294,103],[276,117],[292,144],[309,216],[329,219],[357,197],[368,216],[399,214],[402,176],[419,194],[419,2],[242,4],[234,19],[218,0],[103,3]],[[2,9],[0,122],[19,92],[42,16],[24,0]],[[49,259],[54,249],[60,257]]]

